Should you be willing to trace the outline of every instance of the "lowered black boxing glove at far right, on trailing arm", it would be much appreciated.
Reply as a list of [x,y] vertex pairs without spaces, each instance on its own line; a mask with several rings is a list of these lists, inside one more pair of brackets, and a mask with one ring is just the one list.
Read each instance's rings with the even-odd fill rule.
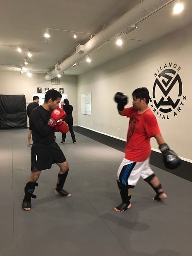
[[170,150],[166,143],[161,144],[159,149],[163,153],[163,162],[166,168],[175,169],[180,166],[181,160],[173,150]]

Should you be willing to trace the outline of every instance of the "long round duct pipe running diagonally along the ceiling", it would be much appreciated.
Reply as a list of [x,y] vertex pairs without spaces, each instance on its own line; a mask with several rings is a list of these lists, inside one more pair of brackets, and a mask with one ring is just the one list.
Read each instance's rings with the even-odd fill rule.
[[129,26],[136,24],[146,16],[157,11],[158,9],[171,3],[173,0],[142,0],[141,3],[134,6],[131,10],[122,15],[117,21],[108,27],[105,27],[102,31],[91,38],[86,44],[84,44],[84,53],[74,53],[60,64],[60,71],[53,69],[51,72],[47,72],[45,76],[46,80],[50,80],[56,77],[58,74],[66,71],[72,67],[74,63],[84,59],[88,54],[92,53],[107,41],[111,40],[116,35],[119,35],[125,31]]

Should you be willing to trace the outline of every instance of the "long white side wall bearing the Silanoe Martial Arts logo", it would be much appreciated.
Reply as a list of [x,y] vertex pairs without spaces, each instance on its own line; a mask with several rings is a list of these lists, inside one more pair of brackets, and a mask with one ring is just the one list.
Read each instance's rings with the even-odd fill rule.
[[[131,106],[132,91],[138,87],[147,87],[152,96],[156,78],[154,74],[158,74],[157,69],[160,70],[165,63],[172,62],[172,65],[176,63],[177,68],[181,67],[179,71],[177,68],[175,70],[183,84],[180,102],[183,96],[186,96],[186,100],[182,100],[184,106],[180,105],[180,112],[175,110],[177,113],[175,117],[172,111],[169,120],[157,117],[157,121],[167,144],[179,156],[192,159],[191,31],[192,24],[81,74],[78,77],[78,124],[126,139],[128,119],[117,114],[116,104],[113,101],[114,94],[117,91],[126,93],[130,98],[128,106]],[[172,91],[173,98],[177,97],[177,85]],[[92,115],[81,114],[83,93],[92,93]],[[151,104],[149,106],[151,107]],[[151,139],[151,146],[158,149],[154,138]]]

